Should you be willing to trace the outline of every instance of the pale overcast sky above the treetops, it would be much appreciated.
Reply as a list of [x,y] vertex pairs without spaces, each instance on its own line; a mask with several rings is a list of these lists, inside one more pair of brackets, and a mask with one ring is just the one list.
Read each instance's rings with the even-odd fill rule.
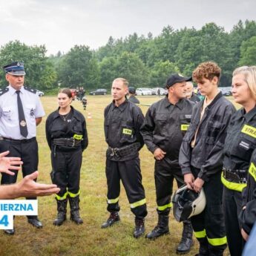
[[96,49],[109,36],[157,36],[168,24],[215,22],[229,31],[240,19],[256,20],[255,0],[0,0],[0,45],[45,45],[49,55],[74,45]]

